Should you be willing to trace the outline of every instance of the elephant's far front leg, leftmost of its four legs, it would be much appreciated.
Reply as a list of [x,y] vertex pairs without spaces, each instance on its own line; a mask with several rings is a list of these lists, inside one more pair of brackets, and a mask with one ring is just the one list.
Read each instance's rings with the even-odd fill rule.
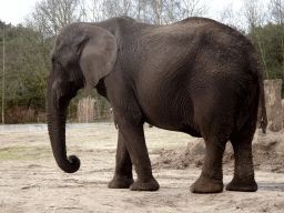
[[112,181],[109,183],[111,189],[129,189],[134,183],[132,174],[132,162],[129,155],[128,148],[122,134],[119,131],[119,141],[116,149],[115,173]]

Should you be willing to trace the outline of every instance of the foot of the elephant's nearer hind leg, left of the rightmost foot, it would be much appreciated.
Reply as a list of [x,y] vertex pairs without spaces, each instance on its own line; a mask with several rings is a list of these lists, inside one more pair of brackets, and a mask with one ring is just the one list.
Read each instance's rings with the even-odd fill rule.
[[219,193],[223,191],[223,181],[213,180],[201,175],[197,181],[191,185],[192,193]]

